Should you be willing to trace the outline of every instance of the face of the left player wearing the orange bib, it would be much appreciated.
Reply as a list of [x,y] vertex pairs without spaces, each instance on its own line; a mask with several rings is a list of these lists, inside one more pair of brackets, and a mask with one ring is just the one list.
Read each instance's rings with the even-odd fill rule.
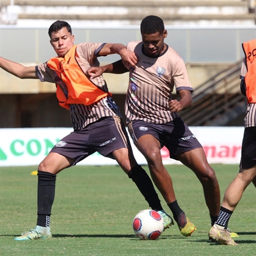
[[64,57],[73,46],[74,35],[71,35],[68,29],[64,27],[59,31],[52,32],[50,42],[56,54],[59,57]]

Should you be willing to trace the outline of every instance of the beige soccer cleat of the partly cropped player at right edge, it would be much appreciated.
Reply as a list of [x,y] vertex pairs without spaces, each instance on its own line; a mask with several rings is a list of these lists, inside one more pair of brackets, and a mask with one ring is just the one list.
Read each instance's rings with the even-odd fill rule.
[[209,231],[209,239],[216,240],[220,244],[237,245],[237,243],[230,237],[228,229],[221,229],[213,225]]

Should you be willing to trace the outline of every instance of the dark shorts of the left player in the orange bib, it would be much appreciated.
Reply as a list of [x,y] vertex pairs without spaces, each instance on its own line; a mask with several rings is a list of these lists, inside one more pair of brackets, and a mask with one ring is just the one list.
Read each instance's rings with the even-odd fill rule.
[[95,152],[114,159],[112,152],[119,148],[131,148],[125,126],[118,116],[108,116],[71,132],[51,152],[75,159],[74,164],[77,164]]

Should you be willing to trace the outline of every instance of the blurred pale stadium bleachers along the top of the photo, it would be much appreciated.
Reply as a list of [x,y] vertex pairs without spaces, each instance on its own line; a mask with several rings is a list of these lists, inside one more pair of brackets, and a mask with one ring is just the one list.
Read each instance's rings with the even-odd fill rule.
[[159,15],[166,25],[220,26],[255,24],[255,0],[1,0],[1,23],[76,20],[86,26],[138,25],[147,15]]

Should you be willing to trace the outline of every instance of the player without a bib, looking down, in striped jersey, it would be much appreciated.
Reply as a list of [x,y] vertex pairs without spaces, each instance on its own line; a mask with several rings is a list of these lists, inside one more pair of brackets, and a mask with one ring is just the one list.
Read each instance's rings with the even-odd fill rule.
[[[184,61],[164,43],[167,31],[161,18],[154,15],[145,17],[140,29],[142,40],[127,45],[127,49],[138,58],[136,67],[129,69],[125,100],[129,133],[147,159],[152,179],[170,207],[181,234],[190,236],[196,227],[177,202],[172,178],[163,165],[161,148],[168,148],[170,157],[188,166],[200,180],[212,225],[220,211],[220,188],[202,145],[177,114],[192,105],[193,88]],[[122,61],[117,61],[88,70],[92,79],[103,72],[121,74],[127,69]],[[172,99],[174,86],[180,100]],[[186,182],[189,181],[184,180],[184,189]]]

